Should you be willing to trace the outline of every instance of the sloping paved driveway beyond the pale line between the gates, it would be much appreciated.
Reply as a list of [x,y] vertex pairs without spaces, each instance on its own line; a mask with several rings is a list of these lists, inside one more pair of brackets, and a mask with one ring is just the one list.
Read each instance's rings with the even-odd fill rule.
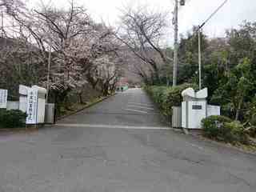
[[[130,89],[93,106],[90,109],[65,118],[58,124],[77,126],[104,125],[111,127],[150,126],[166,127],[166,122],[150,98],[141,89]],[[71,126],[72,126],[71,125]]]

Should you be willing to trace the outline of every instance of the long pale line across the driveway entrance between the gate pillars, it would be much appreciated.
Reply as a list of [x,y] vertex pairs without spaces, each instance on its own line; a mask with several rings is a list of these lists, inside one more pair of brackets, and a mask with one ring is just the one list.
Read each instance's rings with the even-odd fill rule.
[[109,128],[109,129],[129,129],[129,130],[171,130],[170,127],[164,126],[112,126],[112,125],[97,125],[97,124],[56,124],[54,126],[65,127],[89,127],[89,128]]

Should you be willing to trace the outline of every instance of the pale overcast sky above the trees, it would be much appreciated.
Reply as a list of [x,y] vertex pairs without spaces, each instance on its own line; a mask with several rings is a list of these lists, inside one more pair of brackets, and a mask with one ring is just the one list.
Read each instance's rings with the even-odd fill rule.
[[[28,0],[35,4],[37,0]],[[174,0],[75,0],[78,5],[86,6],[90,15],[97,21],[103,19],[111,25],[118,22],[120,8],[127,4],[137,3],[140,5],[149,5],[157,10],[172,11],[174,9]],[[179,33],[186,34],[192,26],[198,26],[222,4],[224,0],[186,0],[186,6],[179,10]],[[43,2],[46,2],[44,0]],[[51,0],[56,6],[67,6],[68,0]],[[204,32],[210,37],[219,37],[225,35],[225,30],[232,27],[238,27],[242,21],[256,22],[256,0],[229,0],[222,10],[214,16],[204,27]],[[171,22],[171,18],[170,18]],[[170,26],[170,38],[173,36],[172,26]],[[171,42],[168,39],[168,42]]]

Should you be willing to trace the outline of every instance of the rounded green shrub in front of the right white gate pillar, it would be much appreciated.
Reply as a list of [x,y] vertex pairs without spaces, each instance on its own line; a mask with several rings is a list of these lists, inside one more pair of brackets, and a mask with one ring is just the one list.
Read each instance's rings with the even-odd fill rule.
[[203,134],[207,138],[230,143],[248,143],[248,137],[240,122],[232,122],[224,116],[210,116],[202,119]]

